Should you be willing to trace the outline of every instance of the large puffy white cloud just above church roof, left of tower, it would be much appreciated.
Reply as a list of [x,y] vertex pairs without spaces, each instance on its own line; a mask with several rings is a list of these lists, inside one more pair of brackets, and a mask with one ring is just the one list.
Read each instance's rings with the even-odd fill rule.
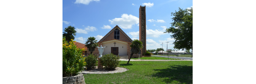
[[120,28],[130,29],[132,25],[139,23],[139,18],[133,15],[122,14],[122,18],[108,20],[112,25],[118,25]]

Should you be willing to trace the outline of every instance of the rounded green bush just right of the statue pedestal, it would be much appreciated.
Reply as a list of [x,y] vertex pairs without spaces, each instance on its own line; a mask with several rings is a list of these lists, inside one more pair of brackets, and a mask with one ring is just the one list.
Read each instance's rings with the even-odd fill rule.
[[105,66],[104,69],[106,70],[114,70],[116,67],[119,66],[119,63],[121,62],[119,61],[119,58],[119,55],[116,56],[112,53],[105,54],[101,57],[101,64]]

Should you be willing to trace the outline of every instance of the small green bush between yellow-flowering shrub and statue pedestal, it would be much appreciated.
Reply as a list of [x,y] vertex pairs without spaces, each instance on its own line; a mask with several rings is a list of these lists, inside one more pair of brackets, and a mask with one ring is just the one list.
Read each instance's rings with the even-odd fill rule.
[[87,70],[94,69],[97,64],[97,56],[90,54],[89,56],[85,57],[85,62]]

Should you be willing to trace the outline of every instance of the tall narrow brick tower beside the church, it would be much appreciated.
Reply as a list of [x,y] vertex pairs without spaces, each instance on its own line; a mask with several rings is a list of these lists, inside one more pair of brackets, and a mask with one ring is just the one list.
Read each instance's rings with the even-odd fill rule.
[[139,26],[140,26],[140,41],[143,43],[142,53],[146,53],[146,6],[140,6],[139,9]]

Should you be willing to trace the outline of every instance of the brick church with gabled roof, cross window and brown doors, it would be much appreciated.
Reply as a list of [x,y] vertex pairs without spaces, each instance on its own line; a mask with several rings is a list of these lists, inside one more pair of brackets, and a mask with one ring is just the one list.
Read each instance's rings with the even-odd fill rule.
[[[116,25],[97,43],[99,46],[105,47],[102,55],[113,53],[114,55],[128,56],[131,55],[131,42],[132,39]],[[87,53],[90,52],[88,51]],[[98,48],[95,48],[92,53],[98,55]]]

